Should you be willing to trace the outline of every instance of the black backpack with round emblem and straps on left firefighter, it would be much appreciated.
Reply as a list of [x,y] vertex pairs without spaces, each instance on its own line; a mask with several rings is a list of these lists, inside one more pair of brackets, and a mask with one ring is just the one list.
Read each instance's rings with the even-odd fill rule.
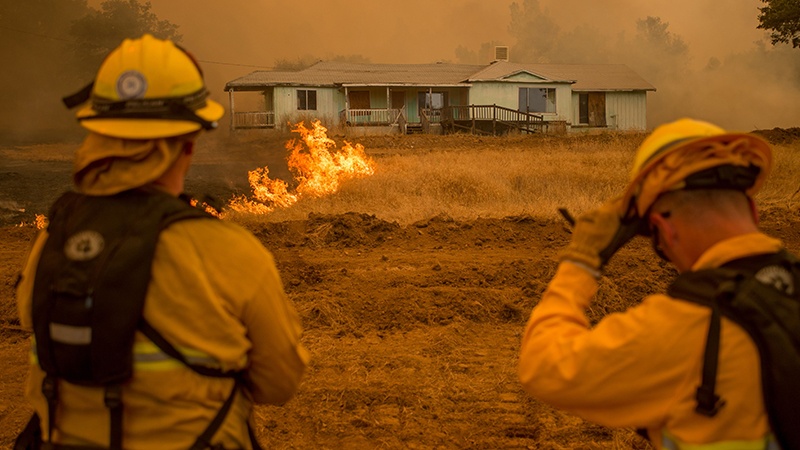
[[[123,448],[122,385],[133,375],[138,330],[193,371],[235,380],[216,417],[191,447],[212,448],[211,438],[243,386],[242,374],[189,362],[142,316],[161,231],[181,220],[214,219],[186,200],[134,189],[112,196],[67,192],[53,204],[32,298],[36,356],[45,372],[42,393],[48,404],[48,436],[52,437],[58,420],[59,382],[65,380],[103,388],[110,448]],[[42,445],[38,424],[34,414],[15,449]],[[259,448],[252,431],[250,437]]]

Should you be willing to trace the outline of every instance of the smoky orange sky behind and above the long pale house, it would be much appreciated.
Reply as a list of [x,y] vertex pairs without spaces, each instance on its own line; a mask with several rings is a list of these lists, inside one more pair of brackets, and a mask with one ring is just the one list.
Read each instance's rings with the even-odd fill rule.
[[[88,4],[97,8],[101,2]],[[648,94],[650,128],[682,116],[741,130],[800,122],[800,108],[794,106],[800,103],[800,49],[773,47],[767,32],[757,29],[761,0],[724,5],[718,0],[170,0],[151,5],[159,19],[178,25],[182,44],[206,71],[213,98],[226,107],[227,81],[281,61],[345,57],[485,64],[495,45],[505,45],[515,62],[627,64],[657,88]],[[12,49],[18,45],[13,39],[4,42]],[[56,76],[32,73],[30,67],[25,71],[22,85],[13,73],[0,75],[0,89],[36,91]],[[0,96],[0,103],[7,97]],[[41,97],[34,106],[37,116],[50,110],[58,110],[51,114],[60,120],[70,116],[56,96]],[[6,116],[8,110],[0,122],[28,124],[24,114]]]

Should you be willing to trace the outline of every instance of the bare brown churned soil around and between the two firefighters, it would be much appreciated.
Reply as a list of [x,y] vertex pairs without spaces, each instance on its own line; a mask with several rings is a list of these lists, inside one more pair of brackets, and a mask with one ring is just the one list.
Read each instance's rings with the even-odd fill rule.
[[[392,145],[411,151],[408,141]],[[243,175],[227,174],[263,164],[280,174],[278,152],[256,161],[246,147],[199,160],[188,190],[224,199],[247,191]],[[73,148],[0,149],[0,448],[11,447],[31,411],[22,396],[29,335],[18,326],[13,284],[35,234],[33,214],[69,188]],[[800,250],[797,211],[766,211],[763,228]],[[265,447],[648,448],[633,430],[549,408],[517,381],[525,321],[569,239],[563,221],[436,216],[400,226],[368,214],[317,214],[252,231],[275,255],[313,358],[294,399],[257,408]],[[594,321],[663,289],[673,272],[637,239],[606,275]]]

